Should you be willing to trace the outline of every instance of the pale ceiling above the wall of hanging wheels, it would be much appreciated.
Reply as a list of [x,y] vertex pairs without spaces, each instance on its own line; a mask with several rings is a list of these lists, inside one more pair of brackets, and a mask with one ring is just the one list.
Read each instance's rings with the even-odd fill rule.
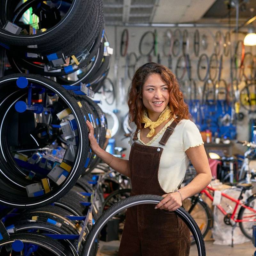
[[[239,0],[239,21],[256,15],[256,0]],[[224,0],[103,0],[106,25],[142,23],[228,23]],[[235,8],[231,23],[235,23]]]

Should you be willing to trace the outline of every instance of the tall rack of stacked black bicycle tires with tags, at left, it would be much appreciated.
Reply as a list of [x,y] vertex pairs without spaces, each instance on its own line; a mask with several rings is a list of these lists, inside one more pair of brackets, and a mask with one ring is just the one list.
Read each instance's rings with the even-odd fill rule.
[[86,120],[102,148],[107,129],[89,98],[106,79],[112,53],[102,0],[1,1],[2,46],[12,68],[0,78],[1,255],[80,255],[103,203],[96,196],[82,232],[96,195],[90,172],[99,162]]

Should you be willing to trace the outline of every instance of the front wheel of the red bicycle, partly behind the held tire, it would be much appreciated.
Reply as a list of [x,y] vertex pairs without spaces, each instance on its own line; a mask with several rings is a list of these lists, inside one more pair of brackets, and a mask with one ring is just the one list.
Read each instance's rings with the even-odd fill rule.
[[[196,221],[203,237],[208,233],[211,222],[212,222],[212,212],[209,206],[203,201],[202,198],[189,197],[183,202],[184,209],[191,215],[191,217]],[[194,236],[191,234],[191,244],[195,244],[196,241]]]

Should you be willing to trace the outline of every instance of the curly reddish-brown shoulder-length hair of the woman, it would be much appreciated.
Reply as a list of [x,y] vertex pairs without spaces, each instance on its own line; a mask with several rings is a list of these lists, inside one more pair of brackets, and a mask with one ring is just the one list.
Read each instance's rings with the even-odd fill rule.
[[142,102],[142,86],[151,74],[159,74],[161,79],[169,85],[170,101],[169,107],[172,111],[172,117],[176,116],[176,121],[189,119],[188,105],[184,102],[183,93],[175,75],[164,65],[154,62],[146,63],[137,69],[129,89],[129,116],[130,121],[134,122],[139,129],[142,128],[141,120],[143,112],[146,109]]

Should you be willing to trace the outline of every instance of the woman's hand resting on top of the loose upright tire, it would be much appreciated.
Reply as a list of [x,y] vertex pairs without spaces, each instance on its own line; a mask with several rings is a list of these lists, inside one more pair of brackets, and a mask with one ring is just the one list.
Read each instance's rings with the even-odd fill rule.
[[182,205],[179,192],[169,193],[163,195],[164,199],[156,205],[155,209],[175,211]]

